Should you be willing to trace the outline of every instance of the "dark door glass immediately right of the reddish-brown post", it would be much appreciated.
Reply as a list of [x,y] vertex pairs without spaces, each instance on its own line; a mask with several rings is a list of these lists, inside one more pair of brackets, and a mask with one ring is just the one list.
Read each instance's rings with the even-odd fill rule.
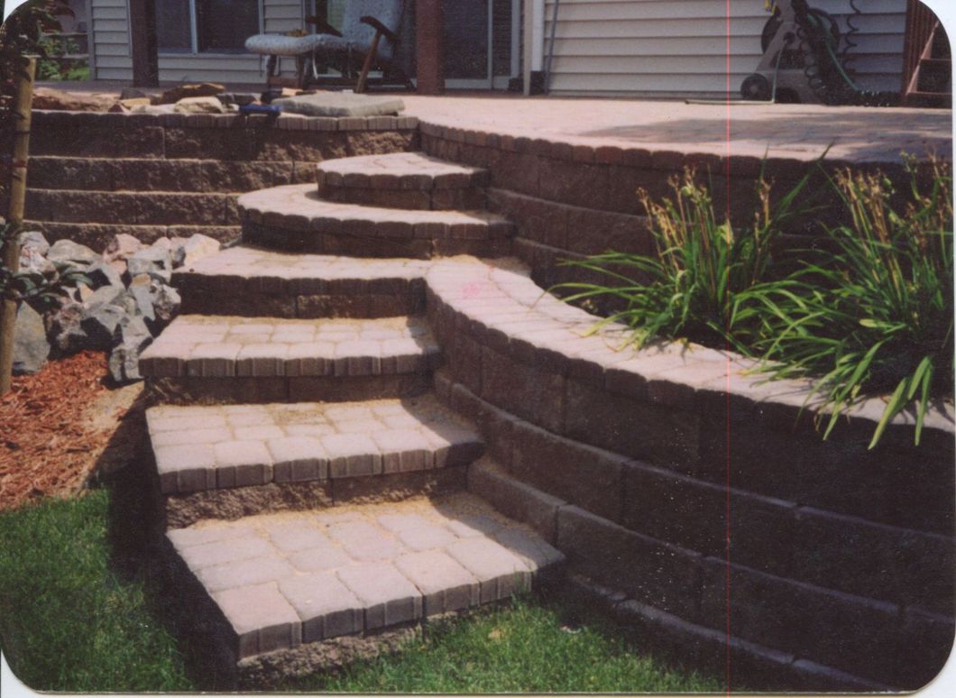
[[445,77],[489,79],[490,0],[445,2]]

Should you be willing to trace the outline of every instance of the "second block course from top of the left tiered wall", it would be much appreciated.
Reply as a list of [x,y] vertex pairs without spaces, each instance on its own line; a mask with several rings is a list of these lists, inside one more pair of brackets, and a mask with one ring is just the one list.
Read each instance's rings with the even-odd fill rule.
[[161,158],[30,158],[30,187],[87,191],[244,192],[315,181],[313,167],[292,161]]

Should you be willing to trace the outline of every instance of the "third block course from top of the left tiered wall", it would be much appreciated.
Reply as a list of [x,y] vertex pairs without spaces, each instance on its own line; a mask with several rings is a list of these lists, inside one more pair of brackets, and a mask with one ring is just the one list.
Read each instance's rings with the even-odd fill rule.
[[234,226],[236,194],[185,191],[27,190],[26,217],[54,223]]

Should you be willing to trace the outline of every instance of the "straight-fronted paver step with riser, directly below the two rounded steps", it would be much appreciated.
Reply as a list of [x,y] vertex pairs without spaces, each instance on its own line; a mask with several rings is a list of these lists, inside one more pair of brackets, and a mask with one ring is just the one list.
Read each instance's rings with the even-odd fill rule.
[[183,312],[277,317],[389,317],[424,310],[418,259],[360,259],[229,248],[173,273]]

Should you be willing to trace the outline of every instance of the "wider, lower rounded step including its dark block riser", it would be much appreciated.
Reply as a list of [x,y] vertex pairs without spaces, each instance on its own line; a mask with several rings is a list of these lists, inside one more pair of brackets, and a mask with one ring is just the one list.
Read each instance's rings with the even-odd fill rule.
[[511,250],[514,229],[507,219],[484,210],[405,210],[325,201],[312,185],[243,194],[239,208],[248,243],[357,257],[502,256]]

